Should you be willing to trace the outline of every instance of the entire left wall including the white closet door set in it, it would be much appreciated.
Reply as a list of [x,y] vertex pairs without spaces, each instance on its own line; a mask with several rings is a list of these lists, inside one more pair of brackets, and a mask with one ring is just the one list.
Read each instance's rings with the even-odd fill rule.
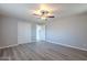
[[[2,19],[2,20],[1,20]],[[14,18],[0,19],[0,48],[30,43],[32,39],[32,23]]]

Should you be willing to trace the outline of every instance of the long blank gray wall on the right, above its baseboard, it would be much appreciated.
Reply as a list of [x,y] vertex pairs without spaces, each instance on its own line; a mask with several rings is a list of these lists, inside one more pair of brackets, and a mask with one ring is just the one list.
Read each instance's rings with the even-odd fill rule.
[[87,50],[87,13],[47,22],[46,41]]

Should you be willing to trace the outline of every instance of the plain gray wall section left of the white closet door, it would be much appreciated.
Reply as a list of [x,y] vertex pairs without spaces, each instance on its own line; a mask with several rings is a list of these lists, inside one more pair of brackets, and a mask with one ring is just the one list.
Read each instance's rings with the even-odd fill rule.
[[18,21],[3,18],[0,21],[0,47],[18,44]]

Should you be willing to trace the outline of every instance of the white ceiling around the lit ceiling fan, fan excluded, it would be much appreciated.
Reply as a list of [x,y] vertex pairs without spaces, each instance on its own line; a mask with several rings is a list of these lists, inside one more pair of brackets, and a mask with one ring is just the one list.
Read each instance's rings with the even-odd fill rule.
[[[59,19],[73,14],[78,14],[87,11],[87,4],[83,3],[50,3],[54,9],[54,19]],[[41,21],[33,15],[33,11],[39,9],[37,3],[0,3],[0,14],[18,18],[26,21]]]

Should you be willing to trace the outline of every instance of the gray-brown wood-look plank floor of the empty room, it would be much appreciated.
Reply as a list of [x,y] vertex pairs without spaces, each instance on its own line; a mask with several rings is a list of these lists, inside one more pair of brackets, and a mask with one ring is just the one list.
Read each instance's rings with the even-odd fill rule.
[[0,50],[0,61],[86,61],[87,52],[47,42]]

